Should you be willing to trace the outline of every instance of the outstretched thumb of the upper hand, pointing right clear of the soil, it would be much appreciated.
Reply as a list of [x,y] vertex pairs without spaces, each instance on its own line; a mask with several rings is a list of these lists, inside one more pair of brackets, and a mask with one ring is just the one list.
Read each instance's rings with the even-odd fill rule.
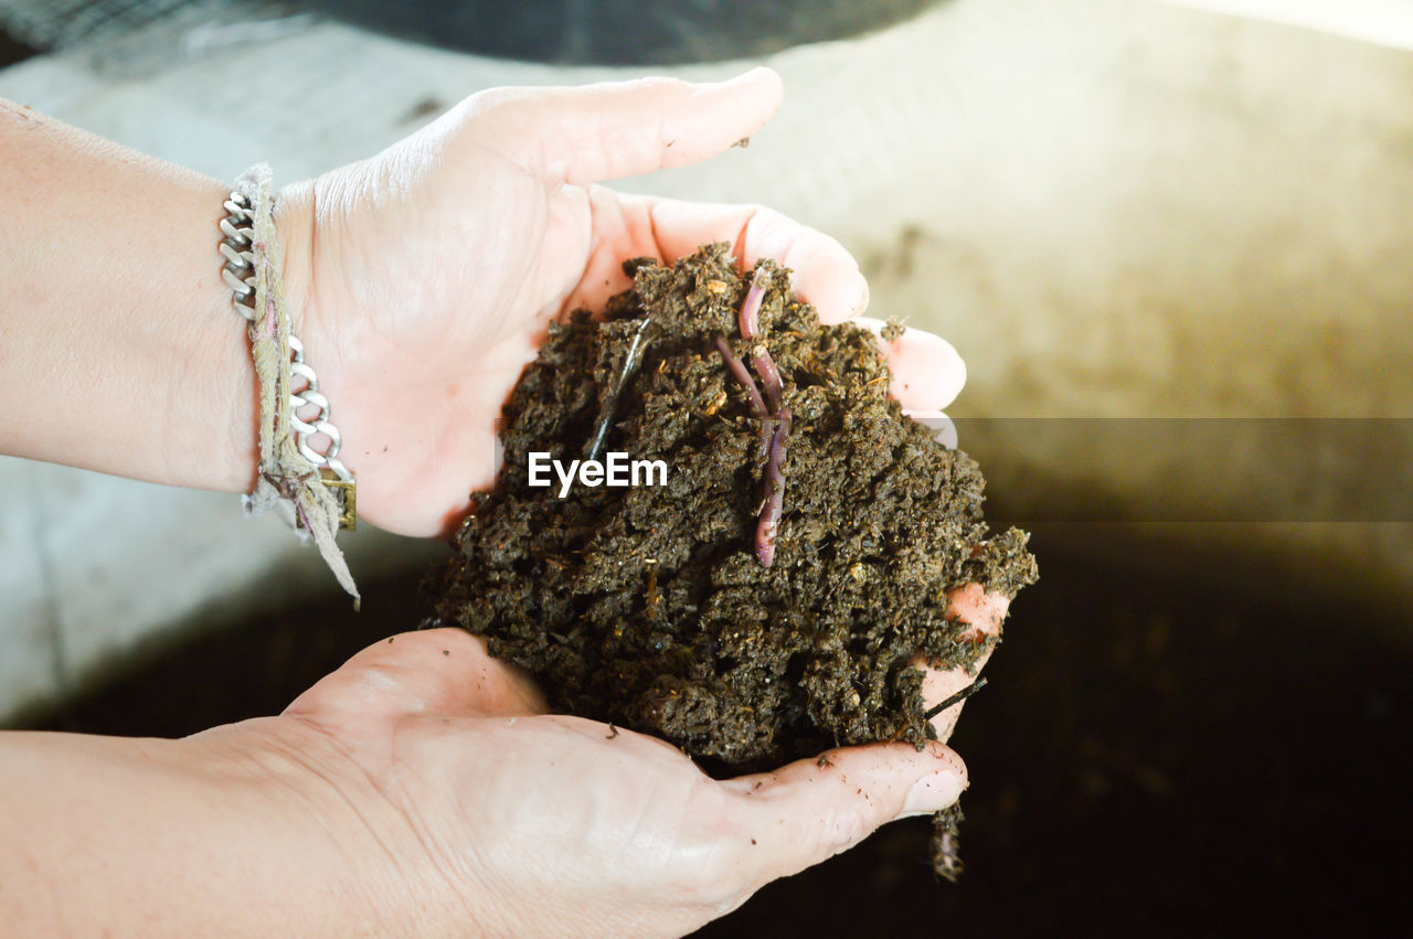
[[644,78],[492,89],[465,106],[476,143],[497,140],[550,185],[588,185],[714,157],[760,130],[783,95],[780,76],[756,68],[715,83]]

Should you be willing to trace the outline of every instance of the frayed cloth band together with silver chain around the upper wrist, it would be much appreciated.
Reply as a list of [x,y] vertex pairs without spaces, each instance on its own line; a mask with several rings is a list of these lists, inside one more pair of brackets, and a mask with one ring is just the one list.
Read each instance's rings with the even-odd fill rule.
[[[342,439],[329,421],[329,401],[319,394],[318,376],[291,333],[270,178],[266,164],[247,169],[236,179],[220,220],[220,254],[226,258],[220,275],[235,291],[230,305],[249,323],[250,353],[260,378],[260,476],[244,507],[247,515],[257,515],[288,504],[295,531],[314,538],[356,609],[357,586],[335,544],[339,528],[352,528],[356,520],[355,480],[339,460]],[[317,414],[301,418],[300,408],[309,407]],[[317,433],[329,439],[324,453],[311,446]]]

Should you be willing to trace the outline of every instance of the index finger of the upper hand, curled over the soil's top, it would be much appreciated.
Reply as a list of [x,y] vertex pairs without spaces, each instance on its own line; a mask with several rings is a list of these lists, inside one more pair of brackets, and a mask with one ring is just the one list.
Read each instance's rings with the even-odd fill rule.
[[853,256],[828,234],[773,209],[625,195],[603,186],[589,192],[589,206],[595,246],[571,306],[601,309],[627,289],[623,258],[673,263],[714,241],[731,243],[743,270],[763,257],[788,267],[791,289],[814,305],[822,322],[842,322],[868,306],[869,285]]

